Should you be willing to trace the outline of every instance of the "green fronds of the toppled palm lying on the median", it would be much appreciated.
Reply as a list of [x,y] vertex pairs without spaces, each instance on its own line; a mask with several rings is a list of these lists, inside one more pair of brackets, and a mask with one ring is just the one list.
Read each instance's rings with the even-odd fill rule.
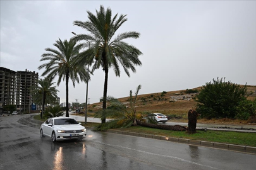
[[[123,103],[118,101],[116,98],[109,98],[109,103],[111,106],[107,107],[106,110],[99,111],[96,113],[95,117],[99,117],[101,119],[106,119],[107,117],[114,118],[113,120],[102,123],[99,125],[96,130],[107,130],[108,128],[119,128],[119,127],[130,127],[131,125],[137,125],[137,119],[142,117],[138,117],[136,115],[136,102],[138,91],[142,88],[141,85],[137,87],[137,91],[135,92],[135,96],[132,95],[132,91],[130,91],[130,107],[126,108]],[[104,111],[104,114],[102,112]]]

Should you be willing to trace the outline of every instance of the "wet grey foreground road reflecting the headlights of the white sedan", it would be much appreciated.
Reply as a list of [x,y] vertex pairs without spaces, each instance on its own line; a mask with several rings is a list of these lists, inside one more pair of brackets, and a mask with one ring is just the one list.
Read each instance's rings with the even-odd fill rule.
[[40,139],[28,115],[0,118],[0,169],[255,169],[256,155],[116,133]]

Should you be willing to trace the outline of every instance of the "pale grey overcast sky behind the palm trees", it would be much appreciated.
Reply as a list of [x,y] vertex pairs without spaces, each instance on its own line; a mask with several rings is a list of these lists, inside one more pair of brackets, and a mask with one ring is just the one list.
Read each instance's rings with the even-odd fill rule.
[[[118,33],[138,31],[127,40],[139,48],[142,67],[121,77],[109,72],[108,96],[175,91],[202,86],[226,77],[237,84],[256,85],[256,1],[1,1],[0,66],[13,71],[35,71],[45,48],[75,33],[87,33],[73,21],[87,21],[101,4],[113,15],[127,14]],[[70,102],[85,102],[86,84],[70,84]],[[90,104],[103,96],[104,72],[94,72],[88,83]],[[65,82],[57,87],[65,101]]]

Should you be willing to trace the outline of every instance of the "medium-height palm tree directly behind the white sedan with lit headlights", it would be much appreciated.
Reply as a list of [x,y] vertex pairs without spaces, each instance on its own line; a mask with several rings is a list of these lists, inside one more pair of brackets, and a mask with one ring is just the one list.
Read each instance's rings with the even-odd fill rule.
[[76,42],[74,40],[59,39],[53,44],[58,50],[52,48],[46,48],[49,53],[42,54],[40,61],[49,60],[46,64],[39,66],[39,69],[46,68],[46,71],[42,73],[42,76],[48,75],[49,79],[54,79],[58,76],[57,85],[59,86],[61,79],[66,80],[66,117],[68,114],[68,82],[71,80],[75,88],[75,82],[84,81],[87,82],[90,76],[85,69],[85,65],[79,64],[77,56],[79,54],[76,48]]

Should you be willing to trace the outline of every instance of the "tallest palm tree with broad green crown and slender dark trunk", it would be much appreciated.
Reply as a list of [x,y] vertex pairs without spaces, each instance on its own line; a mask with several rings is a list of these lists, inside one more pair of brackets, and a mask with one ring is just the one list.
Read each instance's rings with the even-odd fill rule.
[[[138,59],[138,56],[142,54],[138,48],[130,45],[123,40],[126,38],[139,38],[140,33],[136,31],[129,31],[115,35],[118,28],[127,21],[126,15],[121,14],[118,17],[116,14],[113,18],[110,8],[107,10],[101,6],[99,11],[96,10],[96,15],[88,13],[88,21],[74,21],[73,24],[80,26],[87,30],[88,34],[79,34],[73,37],[76,41],[85,42],[80,43],[79,47],[90,48],[82,52],[84,62],[93,63],[92,71],[102,67],[105,72],[104,91],[103,91],[103,104],[102,109],[106,110],[106,98],[107,98],[107,79],[109,69],[113,68],[116,76],[120,76],[119,64],[123,66],[125,73],[130,77],[129,69],[135,72],[135,65],[142,65],[142,62]],[[115,36],[115,37],[114,37]],[[92,42],[92,45],[90,44]],[[104,113],[104,111],[102,112]],[[106,122],[106,118],[102,119],[102,123]]]

